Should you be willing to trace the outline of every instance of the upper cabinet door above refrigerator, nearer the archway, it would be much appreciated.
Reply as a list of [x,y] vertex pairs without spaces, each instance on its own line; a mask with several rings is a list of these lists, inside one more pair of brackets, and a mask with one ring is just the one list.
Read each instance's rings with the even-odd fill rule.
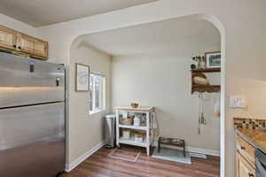
[[18,49],[37,57],[47,58],[48,43],[29,35],[18,34]]

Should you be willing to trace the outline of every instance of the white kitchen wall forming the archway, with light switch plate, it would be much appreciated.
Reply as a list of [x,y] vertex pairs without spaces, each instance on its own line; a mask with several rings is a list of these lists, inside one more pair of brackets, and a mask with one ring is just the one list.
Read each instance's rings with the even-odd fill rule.
[[[187,15],[207,14],[222,33],[223,67],[221,124],[221,176],[231,177],[235,173],[235,142],[233,119],[235,115],[257,115],[264,117],[266,99],[262,95],[248,96],[253,105],[246,111],[235,111],[228,107],[231,94],[249,95],[253,90],[263,90],[265,81],[266,12],[264,0],[160,0],[116,12],[109,12],[88,18],[72,20],[39,28],[43,37],[51,44],[51,58],[54,61],[69,62],[71,43],[79,35],[86,35],[119,27],[129,27],[163,19],[181,18]],[[201,16],[200,16],[201,17]],[[239,81],[239,78],[248,78]],[[236,84],[238,86],[236,87]]]

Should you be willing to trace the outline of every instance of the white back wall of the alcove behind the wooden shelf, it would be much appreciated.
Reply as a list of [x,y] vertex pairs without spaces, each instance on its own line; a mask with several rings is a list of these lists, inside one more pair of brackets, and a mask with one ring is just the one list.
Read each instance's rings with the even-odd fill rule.
[[[199,135],[200,102],[199,94],[192,95],[191,63],[190,56],[114,57],[112,107],[132,102],[154,106],[160,136],[182,138],[193,148],[219,151],[220,119],[213,112],[218,95],[205,95],[207,125],[202,126]],[[220,84],[220,77],[208,75],[212,84]]]

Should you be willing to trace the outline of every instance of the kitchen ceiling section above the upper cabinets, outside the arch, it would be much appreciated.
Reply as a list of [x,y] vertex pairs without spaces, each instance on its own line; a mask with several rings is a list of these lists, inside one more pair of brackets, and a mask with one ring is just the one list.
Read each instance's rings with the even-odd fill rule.
[[153,1],[156,0],[1,0],[0,13],[41,27]]

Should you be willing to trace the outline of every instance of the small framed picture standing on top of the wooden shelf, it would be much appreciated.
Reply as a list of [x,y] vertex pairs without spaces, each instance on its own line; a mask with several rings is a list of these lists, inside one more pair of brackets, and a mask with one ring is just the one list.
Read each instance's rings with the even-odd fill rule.
[[205,58],[207,62],[207,68],[221,67],[221,51],[206,52]]

